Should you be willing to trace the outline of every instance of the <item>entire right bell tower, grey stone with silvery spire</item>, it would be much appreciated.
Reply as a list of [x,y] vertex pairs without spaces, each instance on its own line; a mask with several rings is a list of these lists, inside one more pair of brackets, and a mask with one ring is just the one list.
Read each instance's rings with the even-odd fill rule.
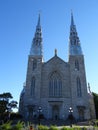
[[74,113],[80,120],[89,119],[88,93],[85,73],[84,55],[76,26],[74,24],[73,13],[71,12],[71,25],[69,36],[69,65],[71,81],[71,104]]

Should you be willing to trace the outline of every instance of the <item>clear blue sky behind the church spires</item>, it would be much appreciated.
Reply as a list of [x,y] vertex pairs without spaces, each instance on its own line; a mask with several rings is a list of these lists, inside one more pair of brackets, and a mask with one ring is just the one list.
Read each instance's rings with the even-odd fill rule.
[[71,10],[87,82],[98,93],[98,0],[0,0],[0,93],[11,92],[19,100],[39,12],[45,61],[54,56],[55,48],[68,61]]

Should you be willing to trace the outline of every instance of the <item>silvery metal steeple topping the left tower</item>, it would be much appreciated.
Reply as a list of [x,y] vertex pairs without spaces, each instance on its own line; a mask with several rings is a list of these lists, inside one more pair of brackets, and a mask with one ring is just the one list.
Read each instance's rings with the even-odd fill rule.
[[38,17],[38,23],[36,26],[35,35],[32,40],[30,55],[42,57],[42,29],[41,29],[41,24],[40,24],[40,14]]

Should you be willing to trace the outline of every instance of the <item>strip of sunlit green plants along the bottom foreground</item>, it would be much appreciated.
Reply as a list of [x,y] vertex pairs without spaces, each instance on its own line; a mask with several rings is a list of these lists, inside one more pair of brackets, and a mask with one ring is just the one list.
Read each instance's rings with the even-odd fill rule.
[[[17,122],[13,125],[13,122],[7,122],[5,124],[0,125],[0,130],[30,130],[30,126],[32,126],[32,130],[93,130],[93,127],[80,127],[80,126],[61,126],[57,127],[54,125],[51,125],[50,127],[45,125],[38,125],[37,128],[34,128],[33,124],[30,124],[29,122],[25,124],[24,122]],[[95,130],[98,130],[98,126],[95,126]]]

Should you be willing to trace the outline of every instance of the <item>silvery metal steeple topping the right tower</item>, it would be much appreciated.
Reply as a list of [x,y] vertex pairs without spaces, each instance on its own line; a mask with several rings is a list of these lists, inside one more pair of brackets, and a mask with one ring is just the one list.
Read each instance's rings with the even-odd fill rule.
[[69,36],[69,55],[82,55],[80,40],[77,34],[76,26],[74,24],[74,18],[72,12],[71,12],[71,25]]

